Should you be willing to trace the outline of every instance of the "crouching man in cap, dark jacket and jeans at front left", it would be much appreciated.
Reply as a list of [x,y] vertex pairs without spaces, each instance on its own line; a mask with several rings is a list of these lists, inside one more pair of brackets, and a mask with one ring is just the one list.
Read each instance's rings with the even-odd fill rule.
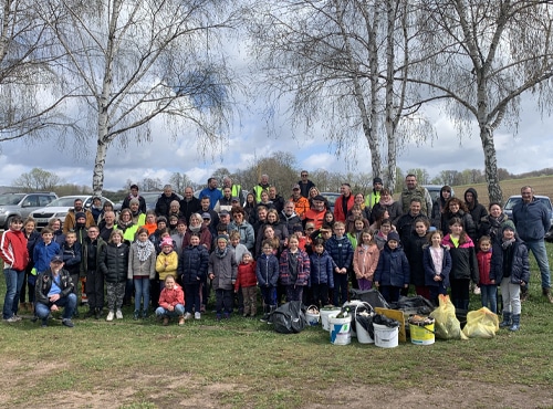
[[[97,228],[94,228],[97,229]],[[34,286],[34,312],[42,326],[48,326],[50,312],[63,307],[62,324],[73,327],[71,317],[76,308],[76,295],[67,270],[63,269],[63,258],[59,254],[50,260],[50,269],[39,274]]]

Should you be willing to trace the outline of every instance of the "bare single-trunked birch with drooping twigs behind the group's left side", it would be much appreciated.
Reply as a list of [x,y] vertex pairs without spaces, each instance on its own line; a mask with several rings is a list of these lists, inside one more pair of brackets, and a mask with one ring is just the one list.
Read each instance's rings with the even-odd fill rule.
[[[165,118],[174,138],[205,154],[228,133],[232,88],[219,31],[231,24],[219,0],[49,0],[52,28],[79,84],[81,124],[95,135],[93,190],[102,192],[107,149],[153,139]],[[188,126],[196,128],[196,138]]]

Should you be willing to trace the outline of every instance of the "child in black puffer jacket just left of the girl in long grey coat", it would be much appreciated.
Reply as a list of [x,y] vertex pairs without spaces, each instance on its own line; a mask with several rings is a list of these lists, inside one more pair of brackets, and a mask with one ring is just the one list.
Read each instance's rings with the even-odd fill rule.
[[114,230],[107,245],[102,249],[100,270],[104,274],[107,287],[107,317],[106,321],[123,319],[123,297],[127,282],[128,245],[123,242],[123,231]]

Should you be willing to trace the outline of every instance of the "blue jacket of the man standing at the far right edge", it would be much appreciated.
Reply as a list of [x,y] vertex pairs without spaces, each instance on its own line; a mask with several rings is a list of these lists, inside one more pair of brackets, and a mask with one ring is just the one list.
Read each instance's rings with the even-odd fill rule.
[[523,241],[543,240],[551,228],[551,219],[545,206],[535,199],[530,203],[522,200],[513,208],[517,233]]

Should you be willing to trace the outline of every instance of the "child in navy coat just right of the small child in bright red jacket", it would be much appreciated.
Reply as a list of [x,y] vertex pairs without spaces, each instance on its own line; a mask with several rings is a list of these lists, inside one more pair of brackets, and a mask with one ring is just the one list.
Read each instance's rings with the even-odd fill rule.
[[255,264],[258,285],[263,297],[263,316],[261,322],[268,323],[270,314],[276,310],[276,284],[279,282],[279,259],[270,240],[262,243],[262,253]]

